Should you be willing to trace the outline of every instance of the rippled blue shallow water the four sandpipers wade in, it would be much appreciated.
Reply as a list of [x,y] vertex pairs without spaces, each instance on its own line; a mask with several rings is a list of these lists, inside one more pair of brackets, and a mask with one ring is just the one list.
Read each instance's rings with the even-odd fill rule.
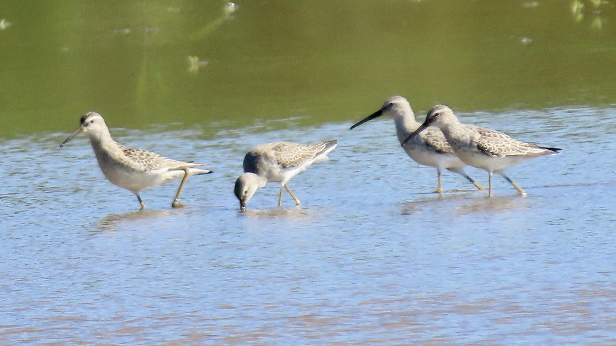
[[[87,139],[4,140],[0,343],[608,345],[616,342],[614,109],[461,114],[562,147],[495,178],[495,197],[418,166],[391,119],[254,133],[127,131],[120,142],[208,163],[189,204],[104,179]],[[575,122],[570,119],[576,119]],[[358,118],[359,120],[359,118]],[[547,129],[547,130],[546,130]],[[203,133],[215,131],[213,139]],[[241,159],[270,140],[338,139],[330,161],[238,212]],[[487,174],[467,169],[487,185]]]

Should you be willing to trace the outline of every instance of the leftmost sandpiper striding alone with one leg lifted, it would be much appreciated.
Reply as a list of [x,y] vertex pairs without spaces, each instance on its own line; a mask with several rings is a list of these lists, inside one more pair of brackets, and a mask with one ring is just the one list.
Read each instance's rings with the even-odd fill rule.
[[92,149],[94,149],[99,167],[105,177],[115,185],[131,190],[137,196],[141,209],[145,209],[144,201],[139,195],[141,191],[180,178],[182,178],[182,182],[171,206],[183,206],[178,198],[188,177],[212,172],[207,169],[196,168],[203,166],[203,164],[176,161],[150,153],[150,151],[124,147],[111,138],[105,120],[94,111],[81,117],[81,125],[60,144],[60,148],[82,132],[90,137]]

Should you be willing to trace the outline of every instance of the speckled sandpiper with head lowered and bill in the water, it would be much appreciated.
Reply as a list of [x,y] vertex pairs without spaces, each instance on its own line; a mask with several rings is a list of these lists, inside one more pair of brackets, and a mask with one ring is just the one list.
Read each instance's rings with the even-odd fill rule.
[[240,209],[245,210],[257,189],[265,187],[268,182],[280,182],[278,207],[282,206],[283,187],[289,191],[295,204],[301,206],[302,203],[286,183],[311,164],[325,161],[337,144],[337,140],[307,145],[274,142],[253,148],[244,157],[245,173],[235,182],[235,196],[240,200]]

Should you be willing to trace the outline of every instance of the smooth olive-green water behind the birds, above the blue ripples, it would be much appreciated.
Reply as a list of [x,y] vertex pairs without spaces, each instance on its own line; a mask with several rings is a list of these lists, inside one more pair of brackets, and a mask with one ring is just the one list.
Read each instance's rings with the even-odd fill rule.
[[417,113],[438,102],[459,111],[616,103],[611,1],[225,6],[2,1],[0,137],[69,132],[88,110],[112,127],[207,132],[354,121],[393,94]]

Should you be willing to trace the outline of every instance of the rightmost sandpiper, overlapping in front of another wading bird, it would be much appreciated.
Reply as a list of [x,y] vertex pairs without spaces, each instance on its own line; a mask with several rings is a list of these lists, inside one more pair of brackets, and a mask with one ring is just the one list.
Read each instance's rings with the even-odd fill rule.
[[556,154],[561,150],[560,148],[538,147],[513,139],[498,131],[462,124],[453,114],[451,108],[445,105],[434,106],[428,112],[426,121],[409,135],[402,144],[413,140],[422,131],[432,128],[430,126],[439,127],[447,138],[447,142],[452,146],[453,151],[464,163],[488,171],[490,180],[488,197],[492,197],[493,172],[502,175],[522,196],[526,196],[526,192],[511,180],[503,170],[527,159]]

